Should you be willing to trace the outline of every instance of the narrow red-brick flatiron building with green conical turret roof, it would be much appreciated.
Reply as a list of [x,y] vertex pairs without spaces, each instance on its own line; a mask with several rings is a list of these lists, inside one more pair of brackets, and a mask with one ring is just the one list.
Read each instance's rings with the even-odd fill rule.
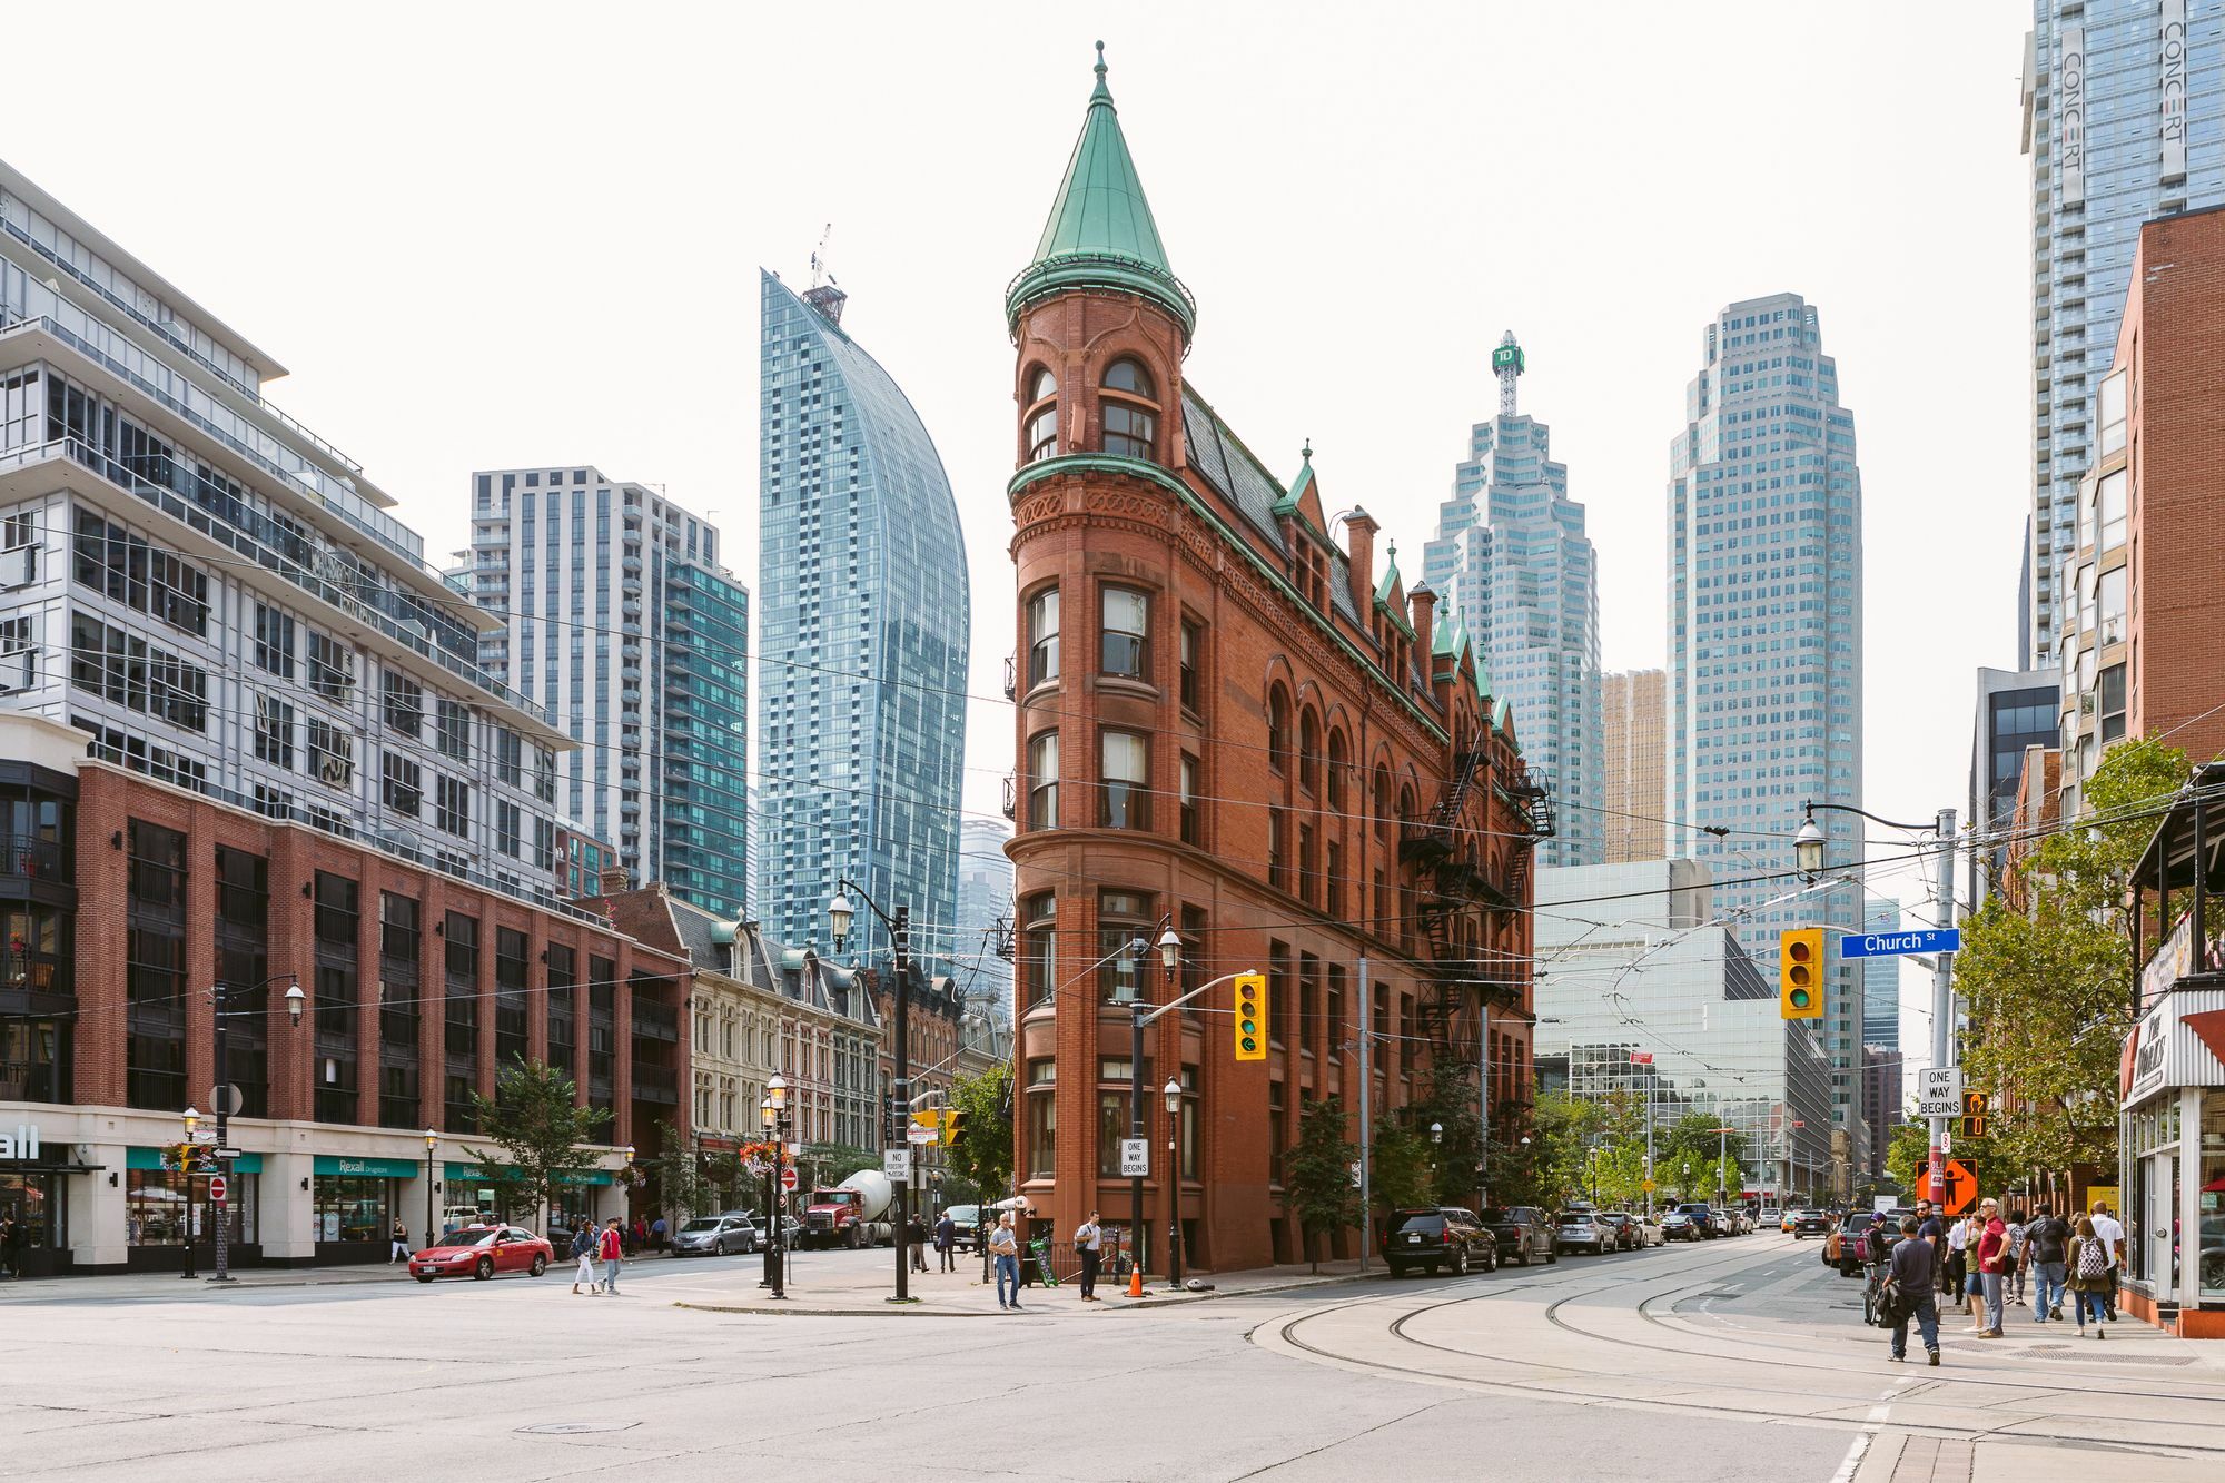
[[[1288,483],[1184,383],[1195,305],[1097,67],[1015,356],[1015,1162],[1037,1222],[1128,1220],[1130,1013],[1268,975],[1266,1060],[1235,1060],[1230,989],[1148,1031],[1148,1265],[1179,1187],[1190,1265],[1302,1258],[1282,1151],[1306,1098],[1377,1116],[1431,1058],[1477,1064],[1493,1133],[1531,1096],[1531,846],[1549,828],[1504,704],[1375,521],[1331,519],[1313,450]],[[1344,546],[1335,530],[1342,526]],[[1366,995],[1362,995],[1366,960]],[[1362,1089],[1359,1035],[1373,1040]],[[1177,1127],[1161,1087],[1179,1078]],[[1357,1133],[1357,1129],[1353,1129]],[[1177,1147],[1168,1169],[1168,1145]],[[1342,1245],[1342,1243],[1339,1243]]]

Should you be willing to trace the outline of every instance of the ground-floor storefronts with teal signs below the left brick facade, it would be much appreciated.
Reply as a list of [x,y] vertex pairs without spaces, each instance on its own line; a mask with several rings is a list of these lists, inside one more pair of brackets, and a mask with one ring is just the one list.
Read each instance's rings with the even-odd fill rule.
[[[207,1129],[202,1129],[207,1131]],[[218,1214],[211,1182],[176,1167],[176,1116],[0,1102],[0,1214],[22,1276],[167,1271],[214,1265],[218,1225],[236,1267],[383,1263],[396,1227],[409,1247],[498,1214],[563,1229],[627,1214],[625,1156],[567,1180],[547,1211],[501,1209],[476,1162],[481,1140],[320,1122],[238,1118]],[[452,1153],[458,1158],[443,1158]],[[191,1251],[189,1251],[191,1249]]]

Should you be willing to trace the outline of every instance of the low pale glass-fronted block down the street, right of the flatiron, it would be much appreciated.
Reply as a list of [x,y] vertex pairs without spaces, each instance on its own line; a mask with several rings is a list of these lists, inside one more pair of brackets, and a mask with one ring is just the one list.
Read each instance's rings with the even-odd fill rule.
[[[1613,933],[1586,920],[1602,900]],[[1829,1069],[1807,1027],[1778,1015],[1773,951],[1751,957],[1720,920],[1695,860],[1537,871],[1537,957],[1551,964],[1537,975],[1540,1076],[1566,1062],[1580,1098],[1646,1098],[1655,1129],[1684,1113],[1722,1118],[1747,1140],[1744,1194],[1820,1198],[1831,1187]],[[1655,1178],[1673,1185],[1678,1171],[1655,1167]]]

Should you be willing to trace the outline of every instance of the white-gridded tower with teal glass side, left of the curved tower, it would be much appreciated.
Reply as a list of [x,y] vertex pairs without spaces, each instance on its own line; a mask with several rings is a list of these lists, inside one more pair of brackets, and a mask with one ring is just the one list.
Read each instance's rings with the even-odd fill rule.
[[490,670],[581,744],[558,802],[634,884],[739,917],[748,882],[750,592],[719,530],[599,468],[472,474],[472,577],[507,619]]

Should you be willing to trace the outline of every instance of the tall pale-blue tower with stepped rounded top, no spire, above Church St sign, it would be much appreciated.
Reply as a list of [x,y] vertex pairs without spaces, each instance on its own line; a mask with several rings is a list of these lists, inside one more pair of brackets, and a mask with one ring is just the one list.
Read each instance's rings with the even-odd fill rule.
[[[1802,804],[1862,804],[1862,474],[1816,310],[1771,294],[1707,327],[1669,479],[1669,848],[1711,866],[1764,973],[1778,931],[1862,913],[1849,886],[1787,900]],[[1860,864],[1858,815],[1816,824],[1829,866]],[[1824,993],[1800,1031],[1831,1067],[1833,1127],[1867,1142],[1860,973],[1838,964]]]

